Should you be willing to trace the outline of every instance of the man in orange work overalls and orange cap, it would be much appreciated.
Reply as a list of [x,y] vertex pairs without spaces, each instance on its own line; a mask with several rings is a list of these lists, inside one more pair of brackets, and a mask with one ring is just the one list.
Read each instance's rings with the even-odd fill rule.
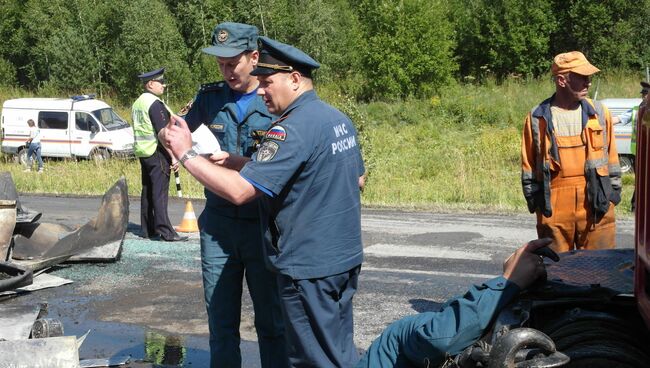
[[578,51],[557,55],[555,94],[524,123],[521,183],[537,234],[557,252],[616,246],[621,167],[609,111],[587,98],[599,71]]

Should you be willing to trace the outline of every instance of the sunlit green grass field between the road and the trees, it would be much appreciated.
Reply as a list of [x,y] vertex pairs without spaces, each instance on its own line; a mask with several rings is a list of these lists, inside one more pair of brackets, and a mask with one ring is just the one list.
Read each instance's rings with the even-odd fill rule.
[[[636,97],[641,79],[603,75],[594,81],[592,94],[598,85],[599,98]],[[550,78],[454,85],[429,99],[400,103],[358,104],[332,90],[324,86],[319,94],[350,115],[360,132],[369,175],[364,205],[526,212],[520,186],[521,127],[526,113],[553,92]],[[21,90],[0,90],[3,101],[25,96],[29,94]],[[113,106],[122,117],[130,117],[130,107]],[[99,195],[120,176],[127,178],[131,195],[141,189],[137,160],[48,160],[45,174],[38,175],[23,173],[5,157],[0,170],[12,173],[21,192]],[[176,195],[173,182],[170,195]],[[181,183],[186,196],[203,197],[201,185],[182,170]],[[634,176],[625,175],[623,183],[619,216],[629,213]]]

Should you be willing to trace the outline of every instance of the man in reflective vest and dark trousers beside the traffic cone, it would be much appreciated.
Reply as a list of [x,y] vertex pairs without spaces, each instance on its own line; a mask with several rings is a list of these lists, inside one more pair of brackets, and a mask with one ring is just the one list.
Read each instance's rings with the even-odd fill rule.
[[165,68],[138,75],[144,92],[133,103],[134,152],[140,160],[142,193],[140,227],[145,238],[185,241],[174,230],[167,215],[169,175],[178,170],[176,159],[158,144],[157,134],[170,121],[170,110],[158,96],[165,91]]

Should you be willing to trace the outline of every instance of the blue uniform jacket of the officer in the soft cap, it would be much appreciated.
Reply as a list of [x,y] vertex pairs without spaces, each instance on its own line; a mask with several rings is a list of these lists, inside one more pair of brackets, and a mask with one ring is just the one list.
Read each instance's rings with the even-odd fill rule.
[[[268,112],[260,96],[254,96],[246,111],[240,115],[237,97],[241,96],[241,93],[230,89],[226,82],[204,84],[185,120],[192,131],[200,124],[210,128],[223,151],[250,157],[275,116]],[[206,207],[222,214],[245,218],[259,216],[257,201],[236,206],[208,189],[205,189],[205,197]]]

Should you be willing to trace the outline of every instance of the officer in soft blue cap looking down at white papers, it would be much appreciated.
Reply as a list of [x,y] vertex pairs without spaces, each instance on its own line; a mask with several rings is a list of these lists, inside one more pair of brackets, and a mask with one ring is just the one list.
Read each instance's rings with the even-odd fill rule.
[[[250,157],[275,118],[257,96],[250,75],[259,60],[257,27],[220,23],[206,54],[216,56],[223,81],[204,84],[185,119],[192,131],[205,124],[223,152],[214,155],[229,165]],[[275,277],[266,268],[258,201],[235,205],[205,189],[199,216],[203,291],[210,329],[211,367],[241,366],[239,324],[242,281],[246,277],[255,310],[262,367],[286,367],[284,323]]]

